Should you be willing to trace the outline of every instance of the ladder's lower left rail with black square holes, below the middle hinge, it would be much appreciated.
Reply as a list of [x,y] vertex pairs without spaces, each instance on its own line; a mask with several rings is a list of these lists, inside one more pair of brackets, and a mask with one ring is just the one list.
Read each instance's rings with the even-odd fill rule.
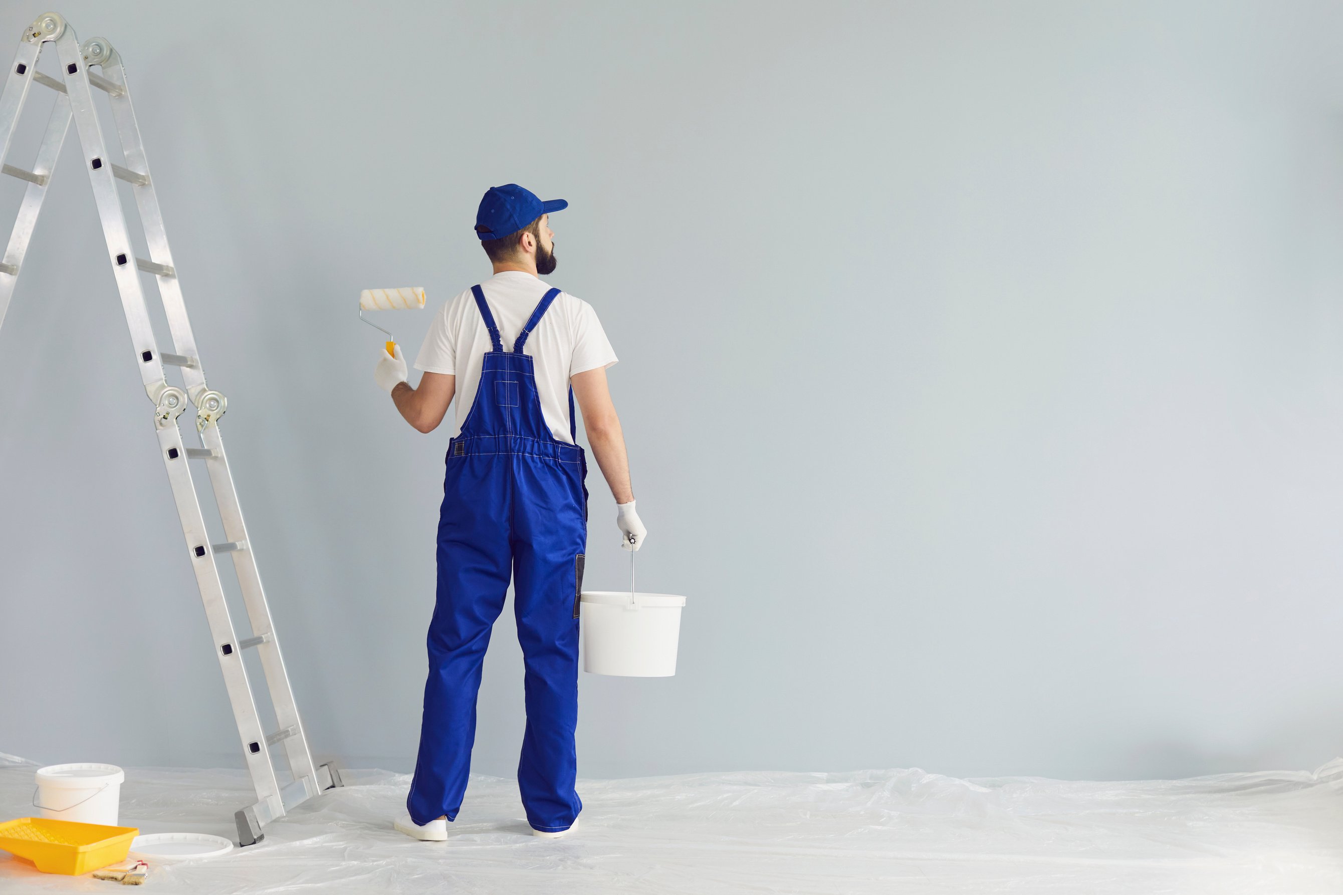
[[242,650],[236,648],[238,633],[228,613],[228,603],[224,601],[224,585],[219,578],[215,554],[210,550],[210,534],[200,511],[200,501],[196,497],[191,468],[187,465],[187,452],[181,443],[181,431],[177,429],[176,421],[165,422],[158,427],[158,450],[168,470],[168,482],[172,485],[173,501],[177,504],[177,516],[181,519],[181,529],[187,540],[192,571],[196,575],[196,586],[200,589],[200,598],[205,606],[205,621],[210,624],[210,634],[215,642],[215,658],[219,660],[219,668],[224,673],[224,689],[228,692],[234,719],[238,722],[238,736],[242,740],[243,758],[247,761],[247,770],[251,771],[252,785],[257,787],[257,798],[263,802],[279,804],[279,781],[275,778],[275,769],[267,754],[266,730],[257,712],[257,701],[252,697],[251,683],[247,680]]

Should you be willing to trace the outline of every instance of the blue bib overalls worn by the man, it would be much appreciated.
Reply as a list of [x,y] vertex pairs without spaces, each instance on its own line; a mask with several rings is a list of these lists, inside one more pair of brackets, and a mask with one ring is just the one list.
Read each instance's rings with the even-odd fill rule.
[[[406,808],[416,824],[455,820],[470,773],[475,693],[490,626],[509,578],[526,665],[526,734],[517,766],[526,820],[568,829],[583,802],[577,759],[579,593],[587,546],[587,460],[551,434],[541,415],[528,335],[560,293],[551,289],[505,352],[485,293],[490,331],[475,400],[449,442],[438,523],[438,594],[428,629],[428,683],[419,758]],[[569,431],[573,388],[569,388]],[[575,439],[576,442],[576,439]]]

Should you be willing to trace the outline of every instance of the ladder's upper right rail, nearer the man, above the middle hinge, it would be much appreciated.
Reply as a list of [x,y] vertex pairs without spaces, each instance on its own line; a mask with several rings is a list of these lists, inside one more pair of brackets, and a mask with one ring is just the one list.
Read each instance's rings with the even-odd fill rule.
[[148,183],[133,184],[132,192],[136,196],[136,208],[140,211],[140,223],[144,227],[145,242],[149,246],[149,259],[154,263],[172,267],[175,271],[175,275],[157,274],[156,278],[158,282],[158,294],[163,298],[164,314],[168,317],[168,329],[172,333],[173,349],[184,357],[196,360],[195,367],[183,367],[181,371],[183,382],[187,384],[187,394],[195,395],[197,387],[205,386],[205,372],[200,363],[200,353],[196,347],[196,337],[191,329],[191,320],[187,317],[187,305],[181,296],[181,285],[176,277],[172,250],[168,246],[168,231],[164,226],[163,211],[158,207],[154,180],[149,173],[149,159],[145,155],[144,141],[140,136],[136,109],[130,101],[126,67],[121,59],[121,54],[115,50],[109,50],[107,58],[102,62],[102,74],[121,89],[120,95],[109,95],[109,102],[126,167],[148,177]]

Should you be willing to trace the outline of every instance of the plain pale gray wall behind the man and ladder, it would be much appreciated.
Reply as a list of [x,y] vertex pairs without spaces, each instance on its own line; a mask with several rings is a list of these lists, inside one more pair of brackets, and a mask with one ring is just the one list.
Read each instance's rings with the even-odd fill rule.
[[[129,60],[320,751],[411,766],[434,598],[446,434],[356,294],[424,285],[418,348],[517,180],[689,598],[676,677],[583,677],[584,775],[1339,753],[1339,4],[120,5],[59,9]],[[0,750],[240,765],[105,258],[71,140],[0,332]]]

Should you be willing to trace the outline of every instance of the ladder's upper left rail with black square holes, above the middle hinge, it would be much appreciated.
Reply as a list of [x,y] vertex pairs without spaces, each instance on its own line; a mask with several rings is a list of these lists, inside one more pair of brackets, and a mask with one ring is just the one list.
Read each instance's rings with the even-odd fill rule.
[[130,341],[136,351],[136,363],[140,367],[140,380],[150,399],[157,399],[165,384],[163,360],[158,357],[158,345],[149,323],[149,309],[145,306],[140,271],[134,265],[134,249],[130,243],[126,216],[121,208],[121,196],[117,195],[111,159],[107,157],[107,146],[103,142],[102,128],[94,110],[89,70],[79,51],[79,39],[73,28],[66,27],[56,38],[56,52],[60,55],[60,65],[66,73],[64,82],[66,93],[70,97],[70,112],[74,116],[75,130],[79,133],[79,142],[83,148],[83,164],[89,171],[93,198],[98,204],[98,216],[102,220],[103,238],[107,241],[117,292],[121,293],[121,308],[126,316],[126,327],[130,329]]

